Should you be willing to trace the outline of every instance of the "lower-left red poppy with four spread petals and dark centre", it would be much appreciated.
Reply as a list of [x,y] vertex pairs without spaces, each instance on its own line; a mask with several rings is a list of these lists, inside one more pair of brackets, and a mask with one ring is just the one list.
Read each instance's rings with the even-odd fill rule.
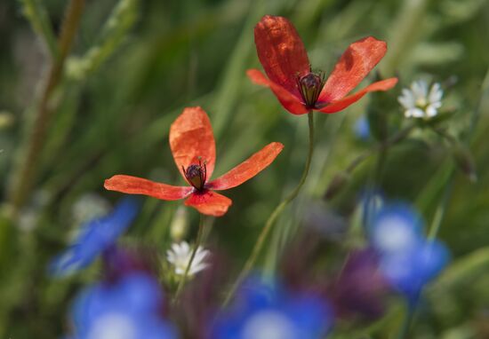
[[166,185],[140,177],[116,175],[105,180],[105,188],[166,201],[188,197],[185,205],[202,214],[220,217],[226,213],[232,201],[213,190],[227,190],[256,176],[275,160],[284,146],[273,142],[228,173],[209,182],[216,160],[211,122],[202,108],[188,107],[170,127],[170,148],[177,168],[189,186]]

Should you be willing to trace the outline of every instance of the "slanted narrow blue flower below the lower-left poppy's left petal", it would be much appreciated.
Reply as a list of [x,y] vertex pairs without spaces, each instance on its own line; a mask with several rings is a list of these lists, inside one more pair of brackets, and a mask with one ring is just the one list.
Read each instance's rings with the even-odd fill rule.
[[108,216],[82,225],[71,245],[49,264],[48,272],[52,276],[62,277],[92,264],[100,253],[116,243],[117,238],[131,225],[138,210],[138,203],[126,198]]

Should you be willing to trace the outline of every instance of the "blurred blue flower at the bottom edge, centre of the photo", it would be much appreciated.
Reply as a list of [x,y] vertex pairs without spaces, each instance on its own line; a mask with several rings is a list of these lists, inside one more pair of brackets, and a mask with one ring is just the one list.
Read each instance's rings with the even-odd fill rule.
[[317,296],[287,293],[248,281],[234,307],[212,327],[212,339],[323,338],[333,323],[328,304]]

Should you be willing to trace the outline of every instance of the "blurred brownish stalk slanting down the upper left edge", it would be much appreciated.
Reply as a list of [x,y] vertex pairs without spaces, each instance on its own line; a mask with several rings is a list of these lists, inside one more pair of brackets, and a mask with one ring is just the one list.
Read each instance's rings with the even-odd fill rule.
[[[71,0],[61,25],[61,33],[58,39],[58,58],[54,59],[44,83],[41,98],[36,108],[36,118],[32,130],[21,150],[25,149],[25,156],[13,170],[14,180],[10,195],[13,214],[16,216],[24,205],[28,193],[36,176],[39,154],[44,146],[47,127],[54,111],[52,107],[52,93],[58,87],[63,74],[63,67],[68,52],[75,40],[76,30],[80,23],[84,9],[84,0]],[[19,175],[17,176],[17,173]]]

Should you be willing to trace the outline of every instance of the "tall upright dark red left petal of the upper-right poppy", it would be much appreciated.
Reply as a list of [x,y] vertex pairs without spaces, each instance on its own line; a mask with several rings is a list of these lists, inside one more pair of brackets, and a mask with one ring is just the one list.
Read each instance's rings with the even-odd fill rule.
[[261,65],[272,82],[299,94],[296,77],[309,72],[309,58],[293,24],[283,17],[265,15],[254,28]]

